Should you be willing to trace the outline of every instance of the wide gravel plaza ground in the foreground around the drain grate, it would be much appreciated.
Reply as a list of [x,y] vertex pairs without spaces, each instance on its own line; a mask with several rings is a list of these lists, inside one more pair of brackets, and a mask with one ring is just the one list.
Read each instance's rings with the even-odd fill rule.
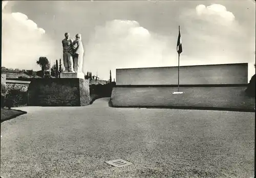
[[[254,115],[248,112],[18,107],[1,123],[1,176],[252,177]],[[105,161],[123,159],[117,168]]]

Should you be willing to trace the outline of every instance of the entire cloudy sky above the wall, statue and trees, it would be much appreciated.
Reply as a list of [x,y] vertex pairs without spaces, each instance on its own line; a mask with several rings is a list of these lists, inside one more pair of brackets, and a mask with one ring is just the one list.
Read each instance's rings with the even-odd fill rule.
[[2,3],[2,66],[40,70],[62,58],[64,33],[82,34],[83,71],[249,62],[255,73],[254,1],[9,1]]

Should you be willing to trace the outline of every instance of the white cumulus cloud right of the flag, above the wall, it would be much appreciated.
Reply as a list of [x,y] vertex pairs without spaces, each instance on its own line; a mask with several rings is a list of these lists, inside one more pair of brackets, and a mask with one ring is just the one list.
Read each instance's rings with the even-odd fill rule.
[[186,31],[183,43],[189,46],[184,53],[201,58],[202,63],[206,56],[212,63],[244,62],[254,51],[254,40],[248,38],[233,13],[222,5],[198,5],[182,13],[180,21]]

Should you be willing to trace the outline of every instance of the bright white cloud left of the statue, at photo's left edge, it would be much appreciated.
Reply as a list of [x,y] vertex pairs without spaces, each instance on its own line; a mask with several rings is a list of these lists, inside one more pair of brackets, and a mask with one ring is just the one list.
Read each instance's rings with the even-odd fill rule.
[[[2,5],[8,6],[7,2]],[[20,12],[2,9],[2,66],[18,69],[40,69],[40,56],[55,59],[53,41],[45,30]]]

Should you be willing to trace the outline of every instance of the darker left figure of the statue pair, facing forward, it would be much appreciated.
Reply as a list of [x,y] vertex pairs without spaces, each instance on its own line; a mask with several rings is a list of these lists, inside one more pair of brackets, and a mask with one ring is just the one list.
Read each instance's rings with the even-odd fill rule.
[[63,63],[65,66],[65,72],[74,72],[73,69],[73,56],[72,45],[73,40],[69,38],[69,33],[65,33],[65,39],[62,40],[63,47]]

